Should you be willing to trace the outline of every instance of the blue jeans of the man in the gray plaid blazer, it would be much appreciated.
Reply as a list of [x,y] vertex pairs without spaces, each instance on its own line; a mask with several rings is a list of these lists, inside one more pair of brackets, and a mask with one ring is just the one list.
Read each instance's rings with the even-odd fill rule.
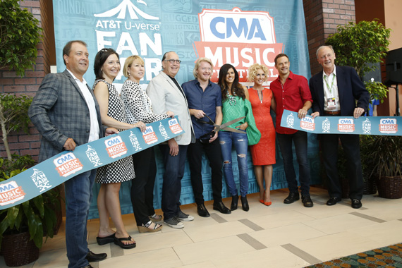
[[87,257],[87,221],[96,169],[81,173],[64,183],[66,192],[66,249],[68,268],[85,267]]

